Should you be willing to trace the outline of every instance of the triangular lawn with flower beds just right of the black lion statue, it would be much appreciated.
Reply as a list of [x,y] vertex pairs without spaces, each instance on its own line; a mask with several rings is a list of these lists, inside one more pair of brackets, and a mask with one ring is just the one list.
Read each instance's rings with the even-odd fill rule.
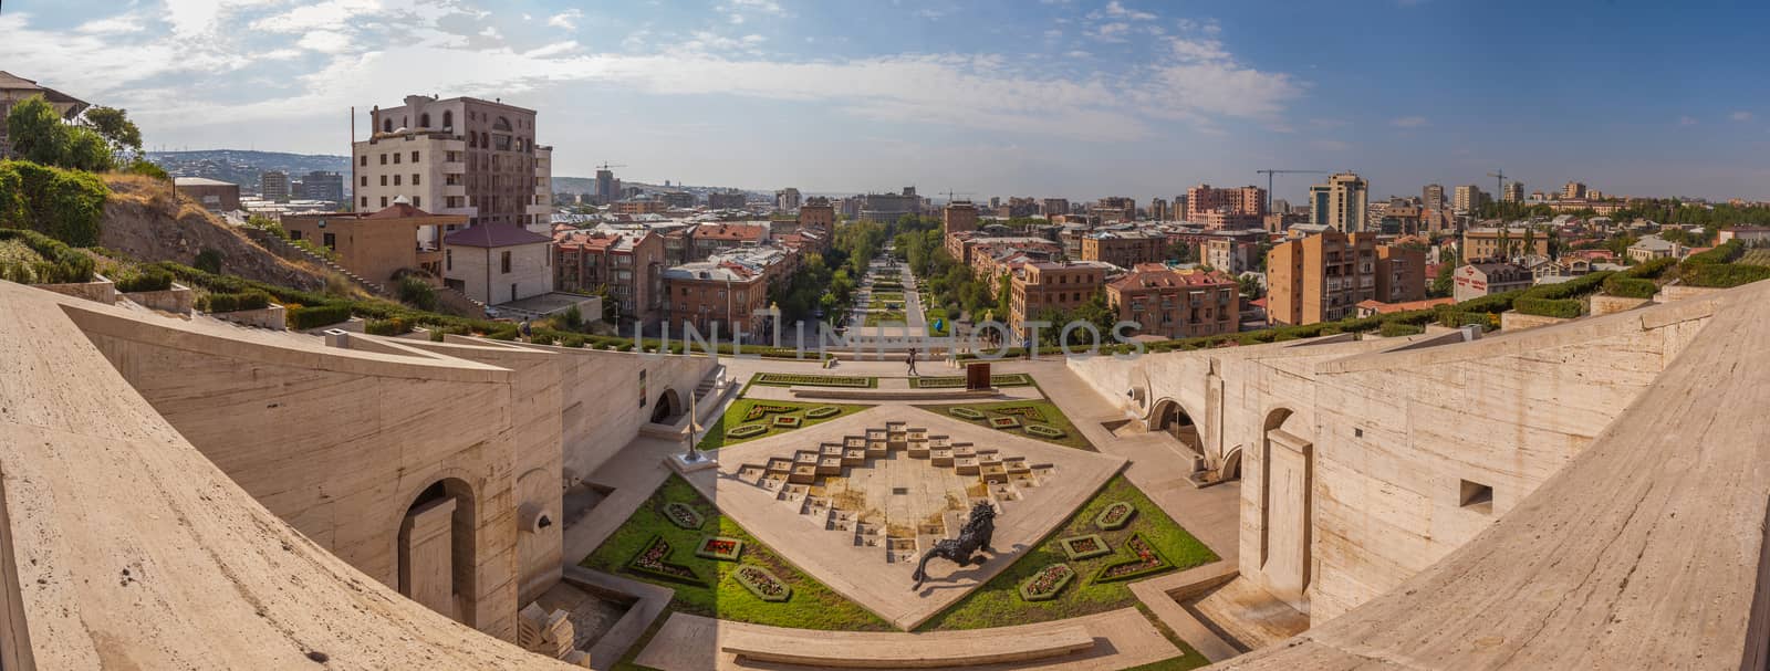
[[[1131,524],[1117,531],[1103,531],[1096,528],[1094,517],[1115,501],[1126,501],[1136,506],[1136,515],[1131,517]],[[924,623],[922,630],[1025,625],[1034,621],[1078,618],[1135,605],[1138,600],[1131,595],[1131,582],[1136,579],[1094,582],[1094,574],[1103,567],[1133,559],[1133,554],[1124,547],[1126,538],[1133,533],[1149,540],[1156,551],[1174,565],[1174,568],[1166,572],[1186,570],[1218,559],[1218,556],[1211,552],[1205,544],[1193,538],[1191,533],[1175,524],[1174,519],[1149,501],[1149,497],[1145,497],[1136,485],[1131,485],[1131,482],[1124,476],[1113,476],[1106,482],[1106,487],[1103,487],[1099,494],[1096,494],[1085,506],[1081,506],[1081,510],[1074,513],[1074,517],[1058,526],[1057,531],[1046,536],[1037,547],[1023,554],[1020,561],[1014,561],[1012,567],[998,574],[982,588],[977,588],[977,591],[972,591],[950,609]],[[1058,540],[1085,535],[1099,535],[1106,540],[1106,545],[1110,545],[1113,552],[1101,558],[1071,561],[1058,545]],[[1057,595],[1057,598],[1044,602],[1027,602],[1020,598],[1020,584],[1023,581],[1037,574],[1039,568],[1060,561],[1069,563],[1069,567],[1076,570],[1076,577]],[[1188,657],[1193,655],[1197,653],[1188,653]],[[1181,660],[1186,660],[1186,657]]]

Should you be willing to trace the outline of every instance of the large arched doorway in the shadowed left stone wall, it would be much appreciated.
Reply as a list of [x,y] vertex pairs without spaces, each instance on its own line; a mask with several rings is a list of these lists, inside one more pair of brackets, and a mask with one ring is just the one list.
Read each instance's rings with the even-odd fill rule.
[[467,627],[474,625],[476,572],[473,487],[442,478],[405,508],[398,540],[402,595]]

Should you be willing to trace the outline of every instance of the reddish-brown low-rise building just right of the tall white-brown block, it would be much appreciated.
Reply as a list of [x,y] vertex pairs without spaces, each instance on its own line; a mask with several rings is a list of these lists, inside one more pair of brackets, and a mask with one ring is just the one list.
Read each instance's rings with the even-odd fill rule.
[[655,326],[664,306],[664,235],[646,227],[602,227],[554,234],[554,287],[607,289],[616,319]]

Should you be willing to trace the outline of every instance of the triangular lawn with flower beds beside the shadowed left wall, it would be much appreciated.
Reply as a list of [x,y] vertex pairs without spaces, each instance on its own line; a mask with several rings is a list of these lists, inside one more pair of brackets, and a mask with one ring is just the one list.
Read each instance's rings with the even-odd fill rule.
[[[664,503],[669,501],[690,505],[706,522],[699,529],[683,529],[673,524],[662,512]],[[664,536],[664,540],[671,544],[671,556],[667,561],[692,568],[697,575],[713,582],[713,586],[687,586],[625,570],[627,563],[646,547],[653,535]],[[694,547],[704,535],[742,540],[743,556],[740,561],[713,561],[694,556]],[[731,577],[740,563],[768,568],[768,572],[793,586],[793,598],[782,604],[770,604],[756,598],[749,590],[738,584],[735,577]],[[676,590],[676,598],[671,600],[669,609],[660,614],[651,630],[648,630],[634,644],[634,648],[627,652],[627,659],[623,659],[616,669],[643,669],[641,666],[632,664],[632,659],[644,650],[646,643],[651,641],[651,636],[657,634],[657,629],[660,629],[662,623],[669,620],[669,614],[676,611],[772,627],[864,632],[894,630],[894,627],[885,620],[880,620],[867,609],[855,605],[855,602],[843,598],[830,588],[802,574],[798,568],[793,568],[791,563],[773,554],[772,549],[758,542],[736,522],[720,515],[719,508],[703,499],[701,494],[689,485],[689,482],[674,474],[666,480],[664,485],[658,487],[658,490],[653,492],[651,497],[627,519],[627,524],[621,524],[621,528],[602,544],[602,547],[596,547],[595,552],[584,558],[581,565]]]

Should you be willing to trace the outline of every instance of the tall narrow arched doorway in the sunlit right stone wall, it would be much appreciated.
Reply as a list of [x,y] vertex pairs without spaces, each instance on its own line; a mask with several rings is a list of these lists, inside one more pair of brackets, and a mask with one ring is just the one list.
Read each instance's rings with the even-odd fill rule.
[[1308,607],[1315,446],[1296,434],[1285,407],[1266,414],[1260,432],[1260,572],[1269,590],[1297,609]]

